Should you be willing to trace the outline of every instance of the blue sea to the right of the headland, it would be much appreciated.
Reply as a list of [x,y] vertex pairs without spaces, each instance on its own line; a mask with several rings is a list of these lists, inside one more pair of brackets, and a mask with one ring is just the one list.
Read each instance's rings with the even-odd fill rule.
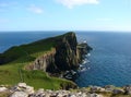
[[131,34],[88,33],[78,34],[93,47],[86,69],[80,72],[75,83],[81,86],[131,84]]

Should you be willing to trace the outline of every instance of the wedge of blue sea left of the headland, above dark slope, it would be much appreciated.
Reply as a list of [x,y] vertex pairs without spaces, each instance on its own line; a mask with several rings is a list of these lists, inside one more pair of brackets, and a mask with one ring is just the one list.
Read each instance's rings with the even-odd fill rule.
[[5,51],[12,46],[28,44],[47,37],[53,37],[66,32],[11,32],[0,33],[0,52]]

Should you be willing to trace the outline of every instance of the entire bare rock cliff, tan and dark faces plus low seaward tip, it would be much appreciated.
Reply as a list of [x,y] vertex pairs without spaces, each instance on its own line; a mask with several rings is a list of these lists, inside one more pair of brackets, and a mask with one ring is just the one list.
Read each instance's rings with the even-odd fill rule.
[[74,70],[92,48],[87,44],[78,45],[74,33],[68,33],[52,38],[56,43],[53,50],[37,58],[27,69],[46,72]]

